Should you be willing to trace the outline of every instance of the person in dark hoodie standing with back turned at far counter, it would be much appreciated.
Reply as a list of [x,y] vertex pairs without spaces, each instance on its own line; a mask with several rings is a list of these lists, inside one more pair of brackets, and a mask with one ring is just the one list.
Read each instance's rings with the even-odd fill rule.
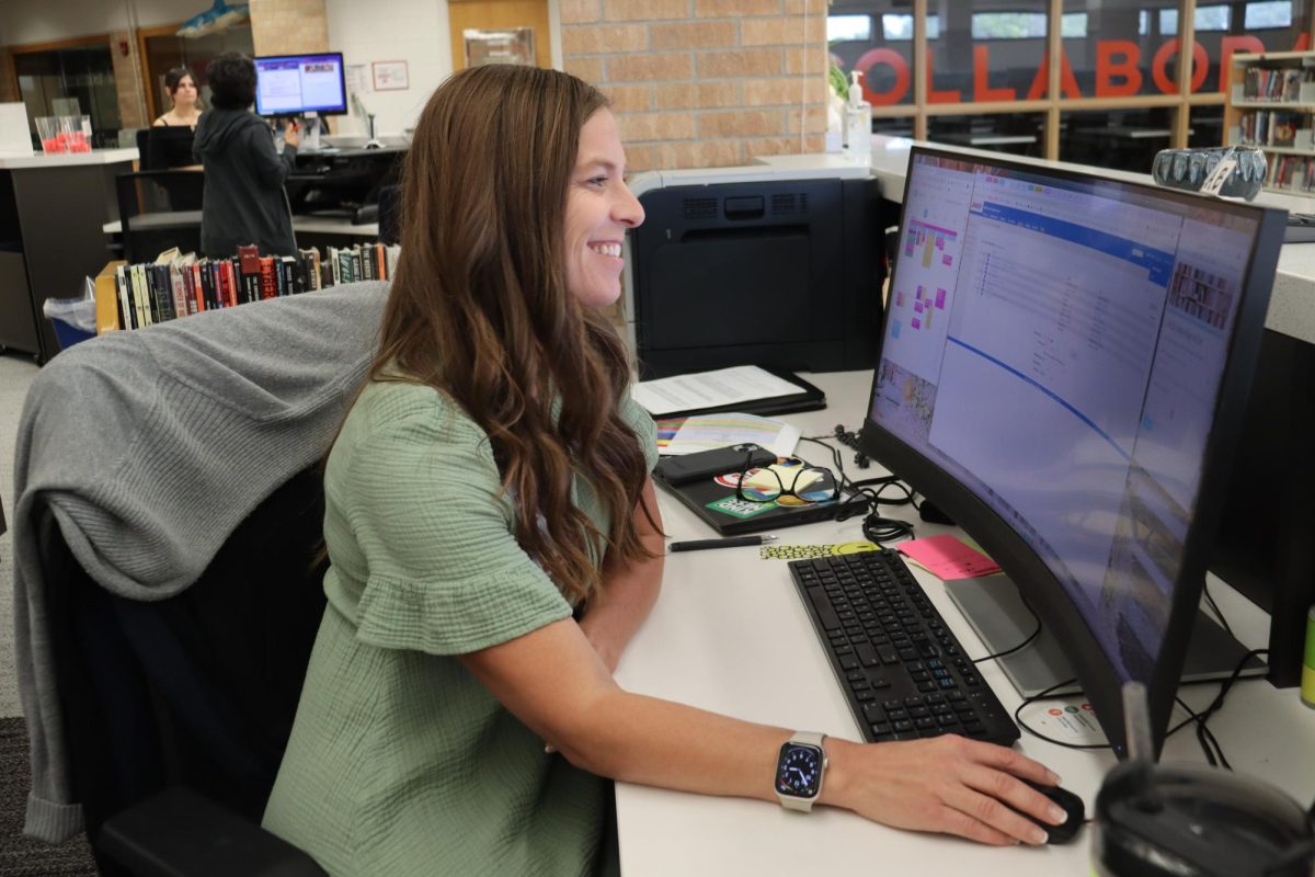
[[246,55],[216,55],[205,75],[210,109],[201,113],[192,147],[205,166],[201,251],[231,258],[239,246],[255,243],[260,255],[296,255],[283,181],[297,155],[297,129],[289,126],[284,133],[279,155],[270,126],[251,112],[255,64]]

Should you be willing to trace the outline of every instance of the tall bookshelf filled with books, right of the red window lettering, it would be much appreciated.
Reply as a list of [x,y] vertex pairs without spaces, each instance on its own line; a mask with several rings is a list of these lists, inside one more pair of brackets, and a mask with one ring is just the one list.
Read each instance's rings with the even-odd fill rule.
[[1265,191],[1315,199],[1315,51],[1237,54],[1228,64],[1224,146],[1258,146]]

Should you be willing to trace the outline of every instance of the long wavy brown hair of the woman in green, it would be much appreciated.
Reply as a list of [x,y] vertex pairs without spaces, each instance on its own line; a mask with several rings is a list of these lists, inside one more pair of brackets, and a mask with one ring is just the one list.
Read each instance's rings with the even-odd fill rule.
[[[625,347],[565,281],[580,129],[606,105],[575,76],[508,64],[434,92],[406,155],[401,259],[371,371],[450,394],[488,434],[517,542],[573,602],[596,596],[605,554],[609,565],[651,556],[633,518],[644,456],[618,414]],[[576,475],[609,533],[571,502]]]

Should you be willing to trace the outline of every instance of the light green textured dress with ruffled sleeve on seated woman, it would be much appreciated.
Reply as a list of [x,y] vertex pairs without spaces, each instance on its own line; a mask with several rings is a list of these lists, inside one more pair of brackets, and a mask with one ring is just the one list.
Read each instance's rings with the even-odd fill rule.
[[[622,412],[650,468],[654,423]],[[547,755],[456,660],[568,618],[513,536],[488,437],[375,383],[325,473],[329,605],[264,826],[331,874],[586,874],[609,781]],[[604,533],[584,479],[576,505]]]

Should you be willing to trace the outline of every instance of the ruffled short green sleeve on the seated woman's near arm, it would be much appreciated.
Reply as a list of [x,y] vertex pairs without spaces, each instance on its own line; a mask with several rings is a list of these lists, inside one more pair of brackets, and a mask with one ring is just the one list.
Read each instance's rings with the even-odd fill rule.
[[389,398],[364,405],[366,422],[355,429],[348,418],[339,438],[348,456],[342,510],[364,565],[358,638],[455,655],[569,617],[515,542],[484,433],[430,388],[394,384],[381,394]]

